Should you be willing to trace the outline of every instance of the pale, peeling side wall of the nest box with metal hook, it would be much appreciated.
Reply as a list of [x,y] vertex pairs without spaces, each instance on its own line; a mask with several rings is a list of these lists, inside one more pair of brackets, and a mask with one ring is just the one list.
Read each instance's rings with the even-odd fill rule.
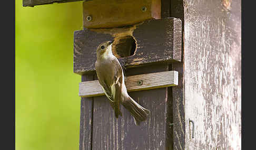
[[241,0],[185,5],[186,149],[241,149]]

